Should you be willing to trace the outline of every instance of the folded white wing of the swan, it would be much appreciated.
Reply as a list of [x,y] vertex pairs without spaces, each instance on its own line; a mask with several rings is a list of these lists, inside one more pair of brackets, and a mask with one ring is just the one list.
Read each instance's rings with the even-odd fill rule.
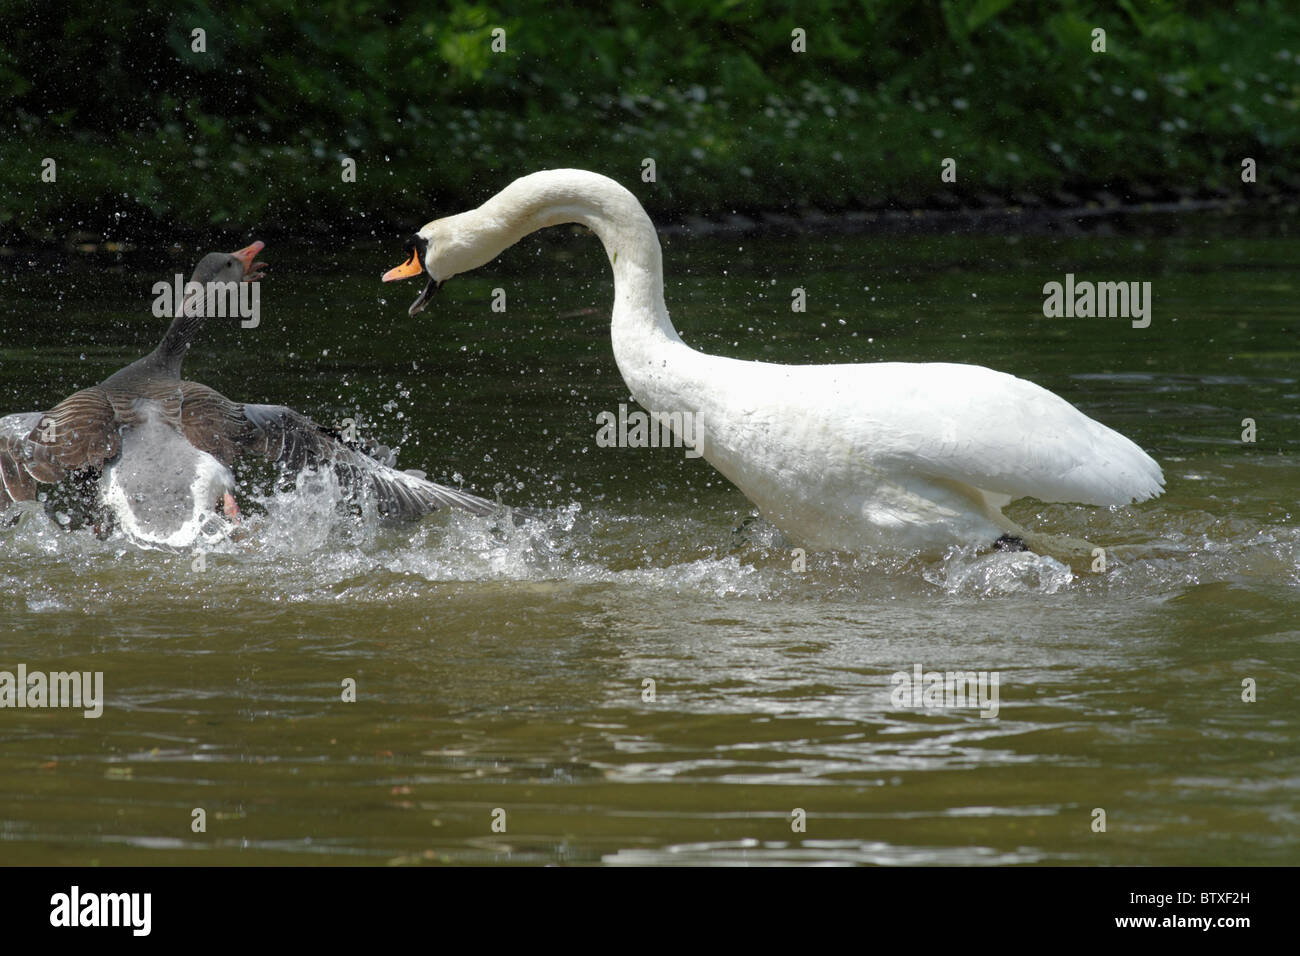
[[881,449],[906,467],[1010,498],[1127,505],[1164,490],[1150,455],[1046,389],[979,365],[920,368],[893,389]]

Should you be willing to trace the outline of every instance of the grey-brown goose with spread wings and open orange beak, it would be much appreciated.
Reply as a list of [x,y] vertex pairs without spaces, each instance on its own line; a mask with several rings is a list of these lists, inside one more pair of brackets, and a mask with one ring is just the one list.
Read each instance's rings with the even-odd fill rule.
[[[263,247],[255,242],[238,252],[211,252],[190,281],[256,281]],[[183,381],[181,364],[204,311],[203,297],[190,295],[143,359],[47,412],[0,418],[0,511],[36,499],[42,484],[90,479],[99,505],[136,544],[187,548],[220,538],[228,522],[238,520],[230,466],[250,453],[292,473],[329,464],[348,498],[372,497],[385,518],[417,518],[448,506],[477,515],[500,510],[420,472],[398,471],[292,408],[233,402]]]

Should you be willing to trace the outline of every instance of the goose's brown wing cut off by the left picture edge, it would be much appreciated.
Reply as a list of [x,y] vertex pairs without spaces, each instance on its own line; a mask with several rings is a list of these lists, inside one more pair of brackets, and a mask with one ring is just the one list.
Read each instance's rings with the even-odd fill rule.
[[0,507],[31,501],[36,485],[99,468],[117,454],[117,410],[98,388],[69,395],[47,412],[0,419]]

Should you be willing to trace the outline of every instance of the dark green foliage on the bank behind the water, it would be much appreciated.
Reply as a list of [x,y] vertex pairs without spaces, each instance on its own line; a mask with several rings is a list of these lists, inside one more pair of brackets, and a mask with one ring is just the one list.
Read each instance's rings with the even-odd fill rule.
[[0,230],[29,238],[389,230],[556,165],[659,217],[1238,191],[1245,156],[1297,185],[1294,0],[9,3],[0,38]]

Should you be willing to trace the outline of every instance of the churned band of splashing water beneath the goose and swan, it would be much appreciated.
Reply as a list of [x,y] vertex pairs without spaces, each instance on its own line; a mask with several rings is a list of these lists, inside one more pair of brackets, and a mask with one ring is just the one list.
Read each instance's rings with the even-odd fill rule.
[[[390,523],[365,496],[347,505],[341,497],[332,471],[304,472],[287,489],[250,494],[243,524],[203,550],[220,558],[226,583],[280,589],[294,601],[333,600],[342,588],[358,600],[382,600],[394,581],[563,581],[762,601],[1149,594],[1244,579],[1300,587],[1300,531],[1158,507],[1112,514],[1052,506],[1031,516],[1114,542],[1109,571],[1095,574],[1032,551],[968,548],[937,559],[812,553],[800,567],[767,523],[745,522],[728,533],[725,519],[685,505],[636,514],[572,503],[529,519],[443,511]],[[139,551],[120,532],[98,538],[86,529],[65,531],[34,503],[10,509],[0,528],[0,576],[31,607],[57,604],[49,581],[70,570],[107,591],[125,592],[142,579],[144,587],[179,593],[208,587],[190,564],[187,553]]]

